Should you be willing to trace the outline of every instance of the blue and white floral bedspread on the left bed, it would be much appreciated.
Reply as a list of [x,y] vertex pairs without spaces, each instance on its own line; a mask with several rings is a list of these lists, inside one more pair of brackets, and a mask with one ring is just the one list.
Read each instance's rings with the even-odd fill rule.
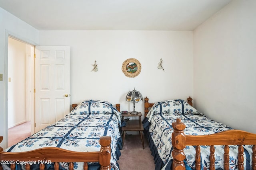
[[[5,151],[24,152],[42,147],[58,147],[79,152],[100,151],[100,137],[110,136],[112,140],[111,166],[112,169],[119,170],[116,161],[120,156],[119,149],[122,149],[120,124],[121,113],[112,104],[106,101],[84,100],[60,121]],[[68,164],[60,162],[60,167],[68,169]],[[83,162],[74,162],[74,169],[83,169],[83,164]],[[89,169],[94,167],[94,164],[98,163],[90,163]],[[8,169],[6,166],[4,168]]]

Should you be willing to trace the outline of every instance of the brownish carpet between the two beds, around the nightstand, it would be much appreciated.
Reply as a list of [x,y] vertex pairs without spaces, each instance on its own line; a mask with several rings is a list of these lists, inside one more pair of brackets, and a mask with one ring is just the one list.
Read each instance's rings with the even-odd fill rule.
[[154,157],[151,155],[148,141],[144,138],[144,147],[140,135],[126,135],[124,147],[118,160],[120,170],[154,170]]

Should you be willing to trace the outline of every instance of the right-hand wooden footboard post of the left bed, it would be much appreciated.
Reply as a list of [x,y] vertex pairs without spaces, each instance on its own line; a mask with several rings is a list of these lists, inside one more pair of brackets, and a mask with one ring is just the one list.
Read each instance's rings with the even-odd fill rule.
[[110,158],[111,158],[111,137],[103,136],[100,138],[100,170],[111,170]]

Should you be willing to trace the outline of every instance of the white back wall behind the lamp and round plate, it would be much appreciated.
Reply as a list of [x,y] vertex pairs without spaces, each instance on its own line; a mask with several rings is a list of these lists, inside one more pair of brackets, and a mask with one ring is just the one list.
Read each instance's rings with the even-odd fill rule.
[[[193,96],[192,31],[40,31],[40,45],[68,45],[71,50],[71,103],[107,100],[132,111],[125,96],[134,88],[150,102]],[[122,63],[135,58],[141,72],[126,77]],[[158,63],[163,59],[164,70]],[[98,72],[91,72],[94,61]],[[144,102],[136,104],[144,114]]]

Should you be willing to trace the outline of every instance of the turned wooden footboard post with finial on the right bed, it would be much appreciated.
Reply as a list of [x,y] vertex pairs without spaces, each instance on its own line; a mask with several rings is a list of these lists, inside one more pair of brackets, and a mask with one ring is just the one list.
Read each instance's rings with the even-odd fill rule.
[[172,169],[173,170],[185,170],[184,159],[186,158],[183,149],[186,147],[186,137],[183,132],[185,124],[181,122],[181,119],[177,119],[172,123],[174,129],[172,133]]

